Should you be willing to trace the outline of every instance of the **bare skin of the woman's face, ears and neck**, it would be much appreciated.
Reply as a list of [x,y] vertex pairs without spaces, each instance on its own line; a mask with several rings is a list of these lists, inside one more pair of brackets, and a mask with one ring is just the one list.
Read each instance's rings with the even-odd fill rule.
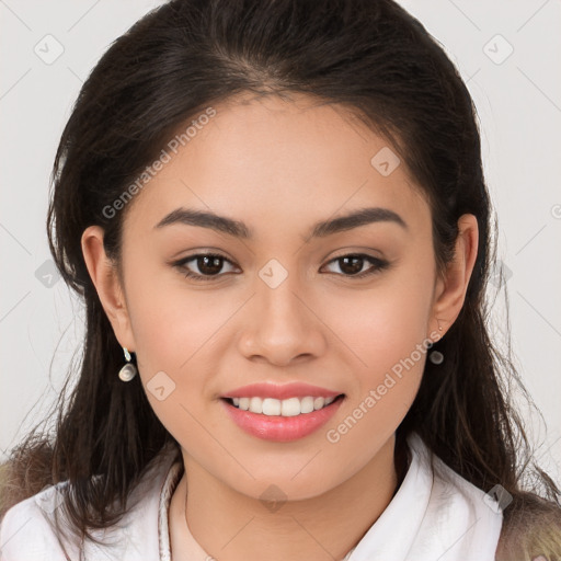
[[[444,336],[454,323],[476,261],[477,219],[459,219],[456,259],[438,275],[430,207],[405,164],[388,176],[370,164],[390,146],[383,138],[342,107],[300,95],[239,96],[215,108],[129,203],[124,283],[98,226],[83,232],[84,259],[118,342],[137,354],[141,382],[163,370],[175,383],[163,401],[147,391],[186,470],[170,506],[173,560],[185,559],[186,525],[220,561],[342,559],[396,491],[394,432],[426,354],[339,442],[327,432],[415,345],[438,339],[438,325]],[[153,228],[180,206],[243,220],[254,239]],[[408,229],[375,222],[302,240],[316,221],[369,206],[398,213]],[[210,282],[169,264],[208,249],[229,260]],[[390,266],[354,279],[335,257],[356,253]],[[288,273],[274,289],[259,276],[271,259]],[[373,266],[363,263],[360,272]],[[208,275],[201,261],[185,267]],[[233,424],[219,401],[255,381],[306,381],[345,400],[316,433],[266,442]],[[271,484],[285,496],[274,512],[260,500]]]

